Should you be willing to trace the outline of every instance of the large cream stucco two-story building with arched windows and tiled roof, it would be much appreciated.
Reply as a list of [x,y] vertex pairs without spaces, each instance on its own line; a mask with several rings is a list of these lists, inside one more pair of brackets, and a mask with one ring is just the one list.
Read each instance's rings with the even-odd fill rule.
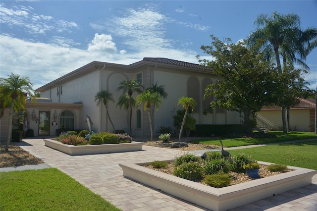
[[[122,95],[122,92],[116,89],[119,83],[126,79],[140,81],[144,89],[156,82],[158,86],[164,86],[168,97],[162,99],[163,105],[159,107],[159,110],[154,111],[154,131],[160,125],[174,128],[172,115],[180,109],[177,103],[182,96],[191,97],[197,101],[193,111],[197,124],[241,123],[237,112],[215,109],[212,114],[203,114],[204,109],[212,100],[212,98],[203,100],[205,88],[218,80],[218,76],[210,69],[173,59],[145,57],[130,65],[93,61],[38,88],[36,91],[41,92],[41,97],[51,99],[52,102],[38,102],[37,105],[27,103],[29,128],[34,130],[35,136],[55,135],[56,129],[62,128],[88,129],[86,115],[89,115],[94,123],[94,131],[112,131],[104,104],[97,106],[95,102],[95,95],[102,90],[107,90],[112,93],[115,101],[108,103],[109,115],[115,129],[129,132],[126,110],[116,106]],[[136,96],[137,93],[134,93],[133,97]],[[3,119],[5,116],[1,121]],[[144,111],[143,106],[133,108],[132,136],[149,135],[148,111]],[[2,137],[1,124],[1,139]]]

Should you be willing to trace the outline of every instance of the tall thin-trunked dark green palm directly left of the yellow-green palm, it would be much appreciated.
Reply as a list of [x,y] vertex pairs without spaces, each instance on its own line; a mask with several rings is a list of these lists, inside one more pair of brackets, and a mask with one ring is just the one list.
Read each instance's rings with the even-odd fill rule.
[[132,94],[133,92],[142,93],[142,85],[137,80],[124,80],[121,81],[120,86],[116,89],[117,91],[122,90],[123,96],[128,95],[129,96],[129,106],[130,106],[130,135],[132,136],[132,127],[131,127],[131,120],[132,120]]

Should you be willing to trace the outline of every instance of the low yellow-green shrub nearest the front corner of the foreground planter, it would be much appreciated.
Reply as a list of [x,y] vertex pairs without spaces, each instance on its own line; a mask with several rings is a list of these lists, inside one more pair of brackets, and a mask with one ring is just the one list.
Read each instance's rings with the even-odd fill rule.
[[226,174],[223,171],[219,171],[212,175],[207,175],[204,179],[204,183],[206,185],[215,187],[215,188],[222,188],[229,186],[231,184],[232,177],[230,174]]

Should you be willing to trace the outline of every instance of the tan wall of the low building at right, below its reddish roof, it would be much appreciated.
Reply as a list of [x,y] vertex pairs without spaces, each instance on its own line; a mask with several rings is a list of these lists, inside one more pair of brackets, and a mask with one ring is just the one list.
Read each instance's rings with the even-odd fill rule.
[[[273,130],[278,130],[283,126],[281,112],[281,110],[262,110],[258,113],[274,124]],[[290,126],[296,127],[296,131],[311,132],[310,114],[310,109],[290,109]]]

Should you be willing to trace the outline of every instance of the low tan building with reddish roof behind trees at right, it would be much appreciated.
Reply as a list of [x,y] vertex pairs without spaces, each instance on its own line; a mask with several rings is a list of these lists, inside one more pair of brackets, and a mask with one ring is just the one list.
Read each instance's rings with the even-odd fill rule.
[[[291,129],[296,131],[315,132],[315,111],[316,99],[301,99],[298,105],[290,108],[289,116]],[[263,107],[258,114],[273,123],[273,130],[282,129],[281,107]]]

